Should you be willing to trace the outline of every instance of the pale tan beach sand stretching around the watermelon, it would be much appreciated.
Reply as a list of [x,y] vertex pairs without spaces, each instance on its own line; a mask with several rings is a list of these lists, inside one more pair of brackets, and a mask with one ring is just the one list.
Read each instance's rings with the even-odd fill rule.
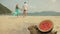
[[60,16],[0,16],[0,34],[30,34],[28,26],[46,19],[53,21],[54,30],[60,34]]

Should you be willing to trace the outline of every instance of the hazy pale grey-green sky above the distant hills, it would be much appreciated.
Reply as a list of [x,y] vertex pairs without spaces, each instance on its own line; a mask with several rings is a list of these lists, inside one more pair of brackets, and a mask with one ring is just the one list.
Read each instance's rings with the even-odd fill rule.
[[0,3],[6,6],[11,11],[15,11],[16,4],[19,5],[19,8],[22,8],[25,1],[28,4],[28,12],[60,12],[60,0],[0,0]]

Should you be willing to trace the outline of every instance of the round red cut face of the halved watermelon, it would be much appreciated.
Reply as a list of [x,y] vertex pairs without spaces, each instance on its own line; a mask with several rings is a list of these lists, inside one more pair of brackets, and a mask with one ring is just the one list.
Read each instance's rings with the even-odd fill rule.
[[50,20],[45,20],[45,21],[42,21],[40,24],[39,24],[39,28],[41,30],[49,30],[52,26],[52,22]]

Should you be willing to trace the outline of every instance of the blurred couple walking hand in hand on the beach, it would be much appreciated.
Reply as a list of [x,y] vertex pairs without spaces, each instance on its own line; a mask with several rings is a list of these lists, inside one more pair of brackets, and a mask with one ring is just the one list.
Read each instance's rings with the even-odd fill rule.
[[18,17],[19,9],[20,9],[21,11],[23,11],[23,17],[25,17],[27,15],[27,10],[28,10],[27,7],[28,7],[27,2],[24,2],[22,9],[20,9],[18,7],[18,4],[16,4],[16,9],[13,15]]

